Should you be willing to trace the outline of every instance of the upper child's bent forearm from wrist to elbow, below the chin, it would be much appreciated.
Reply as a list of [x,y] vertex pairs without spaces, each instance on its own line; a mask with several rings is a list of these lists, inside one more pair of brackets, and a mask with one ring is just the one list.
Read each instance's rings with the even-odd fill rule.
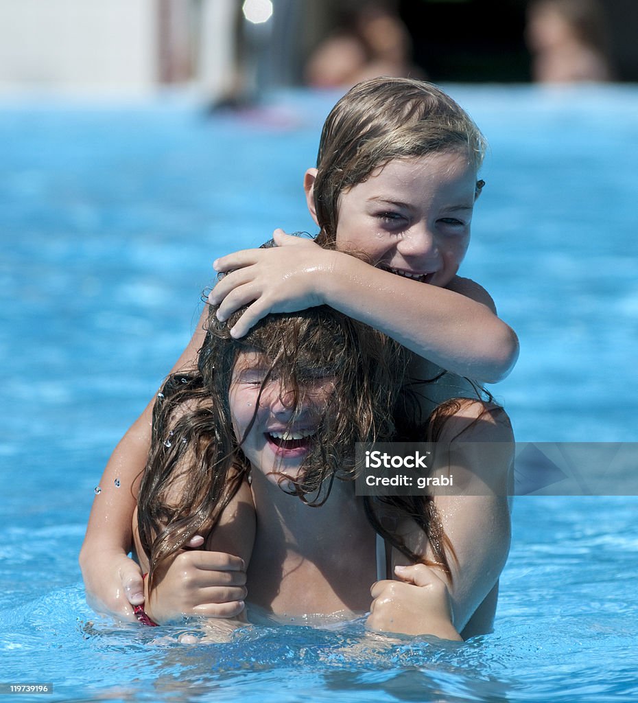
[[486,305],[376,269],[348,254],[330,254],[334,266],[318,283],[330,307],[478,382],[497,382],[514,366],[516,335]]

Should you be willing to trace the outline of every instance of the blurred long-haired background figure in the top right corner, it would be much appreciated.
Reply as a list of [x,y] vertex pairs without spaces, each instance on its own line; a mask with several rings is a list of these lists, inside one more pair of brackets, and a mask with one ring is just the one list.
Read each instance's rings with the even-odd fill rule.
[[525,38],[535,82],[613,79],[606,17],[597,0],[532,0]]

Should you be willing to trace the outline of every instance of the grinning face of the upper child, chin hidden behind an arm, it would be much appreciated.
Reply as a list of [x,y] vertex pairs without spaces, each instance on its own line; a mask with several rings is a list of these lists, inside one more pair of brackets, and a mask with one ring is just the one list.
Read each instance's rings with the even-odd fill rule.
[[339,195],[337,249],[445,286],[467,251],[475,200],[476,171],[464,151],[394,159]]

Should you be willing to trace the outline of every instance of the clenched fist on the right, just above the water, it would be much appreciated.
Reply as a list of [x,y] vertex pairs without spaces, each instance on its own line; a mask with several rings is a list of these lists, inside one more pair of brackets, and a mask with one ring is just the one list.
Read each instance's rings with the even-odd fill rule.
[[462,640],[453,625],[448,587],[424,564],[394,567],[399,581],[372,584],[367,625],[380,632]]

